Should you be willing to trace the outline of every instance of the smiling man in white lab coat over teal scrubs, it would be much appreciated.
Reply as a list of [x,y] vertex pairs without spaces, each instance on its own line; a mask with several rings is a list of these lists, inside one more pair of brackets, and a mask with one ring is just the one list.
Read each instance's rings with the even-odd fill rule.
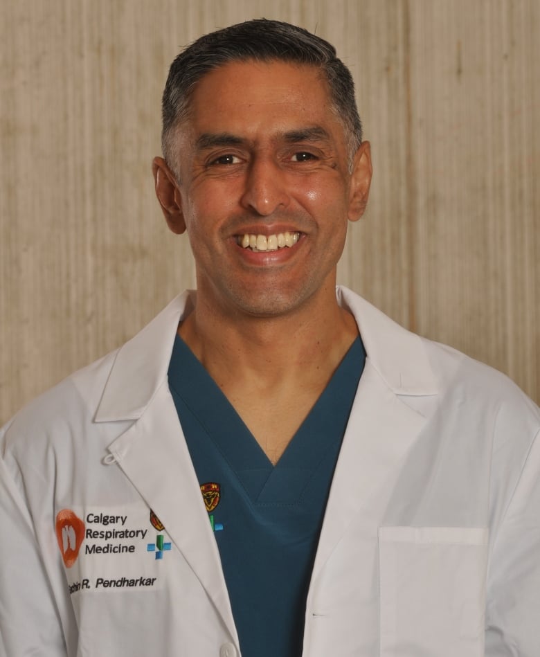
[[350,73],[276,21],[172,64],[156,193],[197,292],[3,430],[2,654],[540,654],[539,409],[336,263]]

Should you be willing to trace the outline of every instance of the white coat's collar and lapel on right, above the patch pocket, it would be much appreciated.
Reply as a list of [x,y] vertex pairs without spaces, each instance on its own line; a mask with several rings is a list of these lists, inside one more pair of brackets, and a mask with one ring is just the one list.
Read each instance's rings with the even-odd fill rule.
[[337,294],[357,320],[367,360],[332,480],[313,579],[352,522],[377,532],[406,454],[426,422],[404,399],[438,391],[422,339],[350,291],[339,288]]

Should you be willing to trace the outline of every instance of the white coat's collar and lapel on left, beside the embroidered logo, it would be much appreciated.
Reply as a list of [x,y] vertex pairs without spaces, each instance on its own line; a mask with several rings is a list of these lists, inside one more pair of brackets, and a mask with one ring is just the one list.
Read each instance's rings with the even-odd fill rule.
[[165,525],[235,638],[219,552],[168,387],[174,336],[193,294],[174,299],[118,350],[94,421],[134,420],[109,445],[111,459]]

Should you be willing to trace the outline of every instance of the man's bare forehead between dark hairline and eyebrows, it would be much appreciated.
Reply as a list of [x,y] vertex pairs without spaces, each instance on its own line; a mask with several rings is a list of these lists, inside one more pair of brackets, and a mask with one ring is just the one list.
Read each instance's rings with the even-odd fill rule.
[[321,69],[246,61],[219,66],[197,83],[183,128],[195,136],[230,132],[249,138],[307,125],[341,132]]

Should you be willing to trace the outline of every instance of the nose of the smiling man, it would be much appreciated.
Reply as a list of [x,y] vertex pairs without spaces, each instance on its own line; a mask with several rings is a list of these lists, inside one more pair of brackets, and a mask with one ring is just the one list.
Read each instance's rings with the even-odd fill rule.
[[246,174],[242,206],[260,217],[269,217],[286,208],[289,200],[286,175],[278,163],[270,158],[254,159]]

